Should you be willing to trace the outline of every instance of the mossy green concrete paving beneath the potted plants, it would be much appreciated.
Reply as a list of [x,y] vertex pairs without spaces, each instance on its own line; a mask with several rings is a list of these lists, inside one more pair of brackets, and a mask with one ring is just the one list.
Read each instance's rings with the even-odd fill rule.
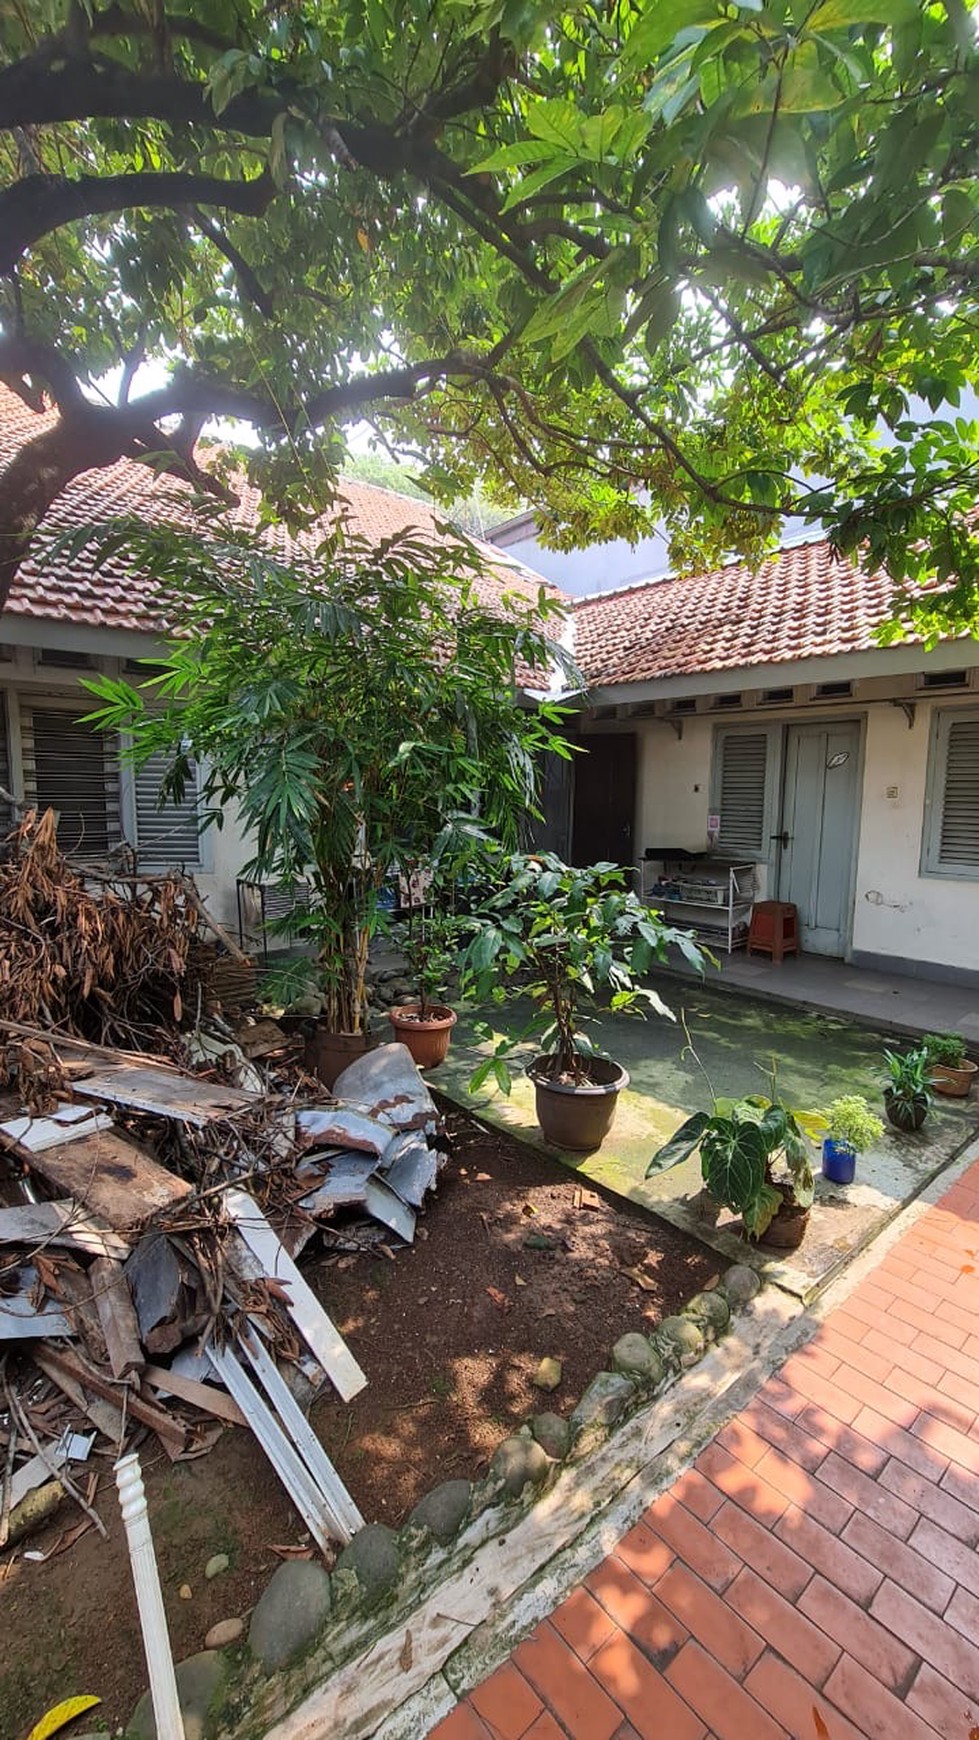
[[[783,1256],[751,1248],[734,1216],[704,1218],[696,1157],[647,1180],[650,1155],[690,1112],[709,1105],[711,1091],[734,1096],[765,1093],[772,1061],[779,1093],[793,1107],[819,1110],[840,1094],[859,1093],[871,1107],[882,1108],[882,1051],[894,1039],[857,1021],[772,1006],[763,999],[729,997],[708,987],[680,987],[676,980],[663,980],[657,988],[675,1009],[675,1021],[607,1016],[593,1032],[596,1042],[629,1072],[614,1128],[595,1154],[560,1152],[543,1140],[534,1088],[523,1074],[534,1044],[511,1060],[513,1093],[508,1098],[496,1091],[470,1094],[468,1079],[490,1049],[489,1042],[475,1037],[473,1011],[463,1011],[449,1060],[431,1072],[431,1086],[485,1122],[553,1154],[584,1178],[642,1202],[711,1244],[729,1262],[755,1263],[803,1300],[826,1286],[904,1202],[918,1195],[979,1124],[974,1100],[936,1101],[920,1133],[887,1131],[871,1152],[861,1155],[854,1185],[840,1188],[817,1180],[816,1206],[798,1251]],[[518,1032],[529,1013],[520,1004],[508,1006],[508,1032]],[[499,1014],[496,1020],[501,1020]]]

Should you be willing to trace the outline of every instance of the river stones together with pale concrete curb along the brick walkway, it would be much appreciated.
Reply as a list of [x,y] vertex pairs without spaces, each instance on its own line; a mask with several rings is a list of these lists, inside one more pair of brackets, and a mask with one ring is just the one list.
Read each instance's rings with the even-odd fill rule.
[[[548,1566],[576,1542],[595,1540],[602,1557],[603,1519],[616,1510],[621,1531],[623,1503],[638,1516],[650,1477],[671,1481],[716,1432],[725,1394],[753,1368],[760,1385],[786,1357],[803,1308],[777,1288],[756,1298],[758,1288],[755,1270],[736,1263],[652,1336],[621,1336],[612,1369],[591,1380],[567,1422],[536,1415],[504,1439],[482,1481],[435,1488],[398,1531],[367,1524],[330,1575],[303,1561],[280,1566],[254,1610],[249,1646],[205,1653],[217,1696],[188,1740],[426,1731],[409,1709],[417,1695],[450,1707],[449,1684],[470,1679],[450,1658],[482,1662],[480,1627],[504,1603],[532,1599],[537,1585],[551,1599]],[[563,1455],[548,1455],[541,1439]],[[205,1656],[191,1662],[200,1672]],[[146,1700],[141,1716],[132,1731],[146,1740]]]

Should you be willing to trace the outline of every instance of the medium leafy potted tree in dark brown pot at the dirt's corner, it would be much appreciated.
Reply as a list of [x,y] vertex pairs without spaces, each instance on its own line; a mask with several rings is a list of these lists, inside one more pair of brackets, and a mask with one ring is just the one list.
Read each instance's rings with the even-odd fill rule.
[[[548,1141],[588,1152],[612,1126],[628,1072],[598,1051],[589,1018],[671,1011],[638,976],[676,943],[697,969],[704,955],[687,931],[673,929],[626,889],[612,863],[572,868],[551,853],[497,861],[492,891],[466,920],[463,988],[485,1007],[525,995],[534,1009],[516,1032],[494,1042],[470,1079],[478,1093],[492,1077],[509,1093],[511,1053],[536,1039],[539,1054],[527,1068],[537,1121]],[[492,1028],[478,1027],[487,1037]]]

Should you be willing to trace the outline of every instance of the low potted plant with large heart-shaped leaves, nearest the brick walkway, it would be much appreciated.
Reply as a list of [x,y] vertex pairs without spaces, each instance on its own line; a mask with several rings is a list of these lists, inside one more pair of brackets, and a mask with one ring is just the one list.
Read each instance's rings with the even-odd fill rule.
[[802,1244],[814,1197],[810,1136],[826,1121],[793,1112],[772,1094],[715,1100],[711,1112],[694,1112],[652,1155],[645,1176],[680,1166],[697,1148],[704,1185],[715,1202],[741,1215],[749,1239],[781,1249]]

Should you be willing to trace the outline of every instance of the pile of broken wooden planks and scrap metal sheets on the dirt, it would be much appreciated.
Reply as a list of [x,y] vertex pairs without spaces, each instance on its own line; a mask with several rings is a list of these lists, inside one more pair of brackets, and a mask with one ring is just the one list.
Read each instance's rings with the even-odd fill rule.
[[226,1425],[320,1547],[362,1526],[304,1408],[367,1378],[296,1256],[414,1239],[438,1112],[403,1046],[327,1094],[275,1023],[181,1042],[205,1074],[0,1020],[0,1547],[64,1493],[101,1526],[99,1451],[196,1456]]

